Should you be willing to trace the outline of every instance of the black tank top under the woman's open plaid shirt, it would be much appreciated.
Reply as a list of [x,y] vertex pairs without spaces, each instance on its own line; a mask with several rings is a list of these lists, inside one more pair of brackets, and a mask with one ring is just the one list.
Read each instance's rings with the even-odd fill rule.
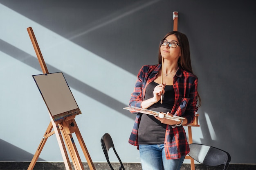
[[[158,84],[154,81],[146,87],[145,99],[153,97],[153,91]],[[172,85],[165,86],[164,100],[160,103],[160,100],[148,107],[150,110],[160,111],[167,113],[171,112],[174,105],[174,89]],[[166,124],[162,124],[154,116],[142,114],[141,121],[138,129],[138,142],[139,144],[164,144]]]

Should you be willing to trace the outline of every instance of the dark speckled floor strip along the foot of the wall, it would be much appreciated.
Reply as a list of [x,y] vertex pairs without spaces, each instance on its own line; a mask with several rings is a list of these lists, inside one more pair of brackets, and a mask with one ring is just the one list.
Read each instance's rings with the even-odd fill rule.
[[[0,170],[27,170],[30,162],[0,162]],[[83,163],[85,170],[90,170],[87,163]],[[94,162],[96,170],[109,170],[108,163]],[[124,163],[126,170],[142,170],[140,163]],[[113,163],[114,169],[119,169],[119,163]],[[74,168],[73,168],[74,169]],[[36,162],[34,170],[65,170],[63,162]],[[184,163],[181,170],[190,170],[190,164]],[[223,166],[207,167],[195,164],[195,170],[223,170]],[[228,170],[256,170],[256,164],[230,164]]]

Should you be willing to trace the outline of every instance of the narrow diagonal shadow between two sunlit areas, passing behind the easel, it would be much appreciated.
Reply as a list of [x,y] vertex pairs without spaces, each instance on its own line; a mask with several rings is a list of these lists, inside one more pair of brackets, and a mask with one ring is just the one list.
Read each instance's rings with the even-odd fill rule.
[[[11,44],[3,41],[2,39],[0,39],[0,50],[5,54],[8,54],[9,56],[13,57],[14,59],[17,59],[18,61],[21,61],[22,63],[25,63],[30,67],[41,71],[40,64],[38,63],[37,58],[16,48],[15,46],[12,46]],[[51,70],[52,72],[61,72],[61,70],[58,70],[52,65],[49,65],[47,63],[45,64],[47,65],[48,70]],[[124,114],[125,116],[127,116],[128,118],[131,118],[132,120],[135,119],[135,115],[130,114],[128,111],[123,109],[124,107],[127,107],[127,105],[124,105],[123,103],[119,102],[118,100],[106,94],[103,94],[99,90],[94,89],[93,87],[79,81],[78,79],[74,78],[73,76],[65,72],[63,72],[63,74],[70,87],[89,96],[90,98],[93,98],[94,100],[97,100],[98,102],[101,102],[103,105],[106,105],[114,109],[115,111]]]

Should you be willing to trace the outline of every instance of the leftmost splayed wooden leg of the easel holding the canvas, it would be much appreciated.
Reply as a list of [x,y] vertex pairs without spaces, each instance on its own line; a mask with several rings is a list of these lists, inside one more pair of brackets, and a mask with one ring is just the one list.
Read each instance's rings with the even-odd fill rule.
[[34,155],[34,157],[32,158],[30,164],[29,164],[29,167],[27,168],[28,170],[32,170],[34,168],[34,166],[36,165],[36,161],[41,153],[41,151],[43,150],[43,147],[48,139],[48,137],[45,137],[46,135],[48,135],[49,133],[51,133],[52,131],[52,123],[50,122],[49,123],[49,126],[47,127],[46,131],[45,131],[45,135],[43,136],[43,139],[41,140],[37,150],[36,150],[36,153]]

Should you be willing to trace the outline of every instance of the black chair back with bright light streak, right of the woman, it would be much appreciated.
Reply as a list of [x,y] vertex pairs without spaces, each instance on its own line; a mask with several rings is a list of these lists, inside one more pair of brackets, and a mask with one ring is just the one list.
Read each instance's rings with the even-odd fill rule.
[[189,156],[206,166],[224,165],[227,170],[231,157],[229,153],[213,146],[203,144],[189,144]]

